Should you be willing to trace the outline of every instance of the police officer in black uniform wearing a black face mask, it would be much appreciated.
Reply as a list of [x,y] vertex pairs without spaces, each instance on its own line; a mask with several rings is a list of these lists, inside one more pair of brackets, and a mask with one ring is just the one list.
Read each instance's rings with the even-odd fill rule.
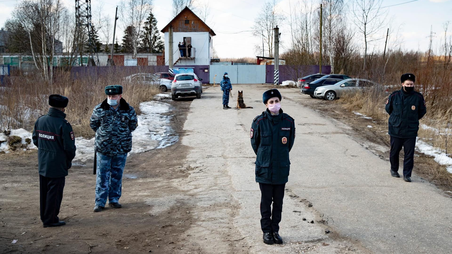
[[427,109],[424,96],[414,91],[414,75],[405,73],[400,77],[400,81],[402,88],[393,92],[386,100],[386,112],[390,115],[388,121],[388,134],[391,136],[390,172],[393,177],[400,177],[397,171],[399,170],[399,153],[403,147],[405,151],[403,179],[411,182],[419,119],[425,115]]

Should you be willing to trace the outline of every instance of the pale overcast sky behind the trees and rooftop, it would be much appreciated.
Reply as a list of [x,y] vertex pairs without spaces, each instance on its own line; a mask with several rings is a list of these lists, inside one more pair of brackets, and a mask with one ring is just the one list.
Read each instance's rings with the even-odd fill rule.
[[[220,57],[254,57],[255,45],[262,44],[262,38],[252,36],[252,32],[241,32],[251,30],[254,19],[258,17],[259,11],[264,5],[263,0],[195,0],[198,5],[208,3],[210,7],[210,17],[207,25],[210,26],[217,36],[213,37],[213,47]],[[344,0],[350,2],[351,0]],[[410,0],[383,0],[382,6],[396,5]],[[0,0],[0,26],[3,26],[6,19],[11,16],[11,11],[17,4],[17,0]],[[63,0],[68,9],[74,9],[74,0]],[[103,14],[109,16],[113,23],[115,7],[119,0],[92,0],[93,12],[102,6]],[[159,30],[165,27],[172,19],[171,0],[154,0],[153,13],[158,21]],[[277,0],[278,7],[282,14],[288,16],[290,6],[295,5],[297,0]],[[313,2],[317,2],[314,1]],[[350,9],[346,7],[346,9]],[[444,38],[443,23],[450,20],[449,34],[452,33],[452,0],[416,0],[410,3],[391,6],[388,10],[387,20],[391,20],[394,34],[392,43],[403,42],[402,47],[406,50],[428,49],[430,26],[435,33],[433,37],[433,47],[439,49],[441,40]],[[352,26],[352,22],[348,20]],[[281,33],[281,41],[288,45],[290,31],[288,24],[278,26]],[[398,29],[400,28],[400,29]],[[119,24],[117,28],[117,37],[121,42],[122,31],[124,27]],[[395,33],[399,31],[399,37],[395,38]],[[381,34],[386,34],[386,28],[383,28]],[[102,36],[101,36],[102,37]],[[382,37],[384,37],[382,35]],[[162,33],[163,38],[163,33]],[[359,40],[359,34],[355,34],[355,39]],[[384,47],[384,40],[377,42],[377,48]]]

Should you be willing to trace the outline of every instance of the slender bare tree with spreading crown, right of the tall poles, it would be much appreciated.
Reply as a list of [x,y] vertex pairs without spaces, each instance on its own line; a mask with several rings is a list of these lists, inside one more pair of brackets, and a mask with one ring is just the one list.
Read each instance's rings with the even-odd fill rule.
[[363,71],[366,69],[367,48],[369,42],[376,41],[378,32],[384,27],[387,10],[381,8],[382,0],[355,0],[353,2],[352,21],[362,33],[364,39],[364,64]]

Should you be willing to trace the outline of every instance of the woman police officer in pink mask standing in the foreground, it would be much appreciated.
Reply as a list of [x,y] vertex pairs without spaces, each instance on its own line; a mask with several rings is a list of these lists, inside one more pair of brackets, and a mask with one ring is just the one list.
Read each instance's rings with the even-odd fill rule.
[[[293,118],[283,113],[281,94],[271,89],[263,94],[267,110],[253,120],[250,137],[256,156],[256,182],[261,191],[260,220],[266,244],[282,244],[279,235],[284,187],[289,176],[289,152],[295,139]],[[273,201],[273,211],[270,206]]]

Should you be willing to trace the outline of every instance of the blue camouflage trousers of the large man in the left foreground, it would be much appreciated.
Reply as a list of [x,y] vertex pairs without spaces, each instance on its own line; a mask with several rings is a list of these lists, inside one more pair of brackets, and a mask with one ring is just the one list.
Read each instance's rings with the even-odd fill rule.
[[127,153],[114,156],[97,153],[96,206],[105,207],[107,197],[110,203],[121,198],[122,172]]

